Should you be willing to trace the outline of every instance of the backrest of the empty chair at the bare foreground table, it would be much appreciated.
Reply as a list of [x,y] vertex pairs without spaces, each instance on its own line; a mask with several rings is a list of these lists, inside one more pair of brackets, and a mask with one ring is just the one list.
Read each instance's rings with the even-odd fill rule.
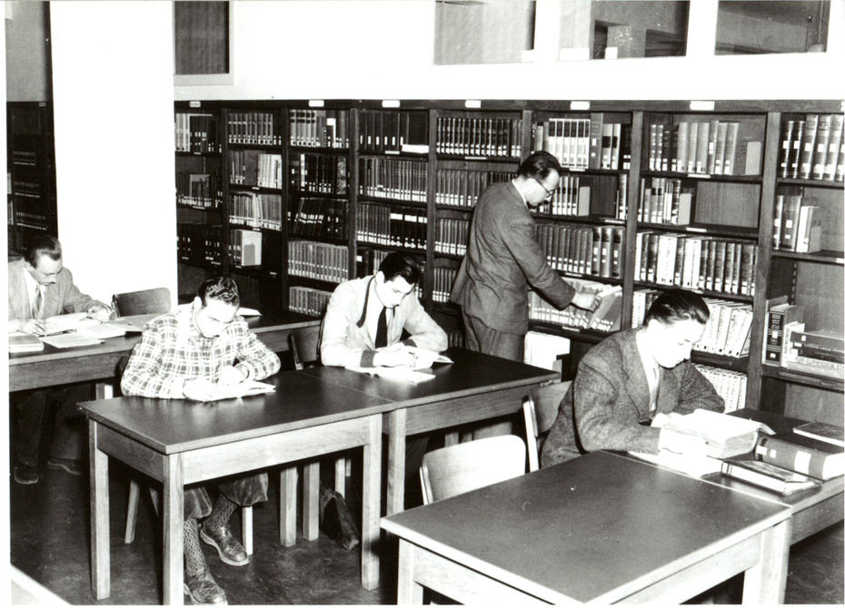
[[422,457],[422,503],[463,494],[525,473],[525,444],[515,435],[442,447]]

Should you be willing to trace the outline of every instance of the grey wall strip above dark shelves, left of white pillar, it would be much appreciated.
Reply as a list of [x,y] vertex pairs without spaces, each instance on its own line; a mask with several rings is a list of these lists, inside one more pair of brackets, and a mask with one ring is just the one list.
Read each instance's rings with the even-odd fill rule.
[[49,99],[45,2],[5,2],[6,100]]

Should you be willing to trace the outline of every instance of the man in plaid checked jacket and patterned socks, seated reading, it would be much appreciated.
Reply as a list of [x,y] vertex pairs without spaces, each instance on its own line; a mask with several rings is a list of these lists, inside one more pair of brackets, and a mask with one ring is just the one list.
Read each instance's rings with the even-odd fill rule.
[[[239,305],[234,280],[217,277],[204,281],[190,309],[150,321],[126,365],[121,380],[124,395],[205,401],[216,397],[218,384],[273,375],[279,370],[279,358],[237,315]],[[266,473],[227,477],[217,485],[220,495],[214,507],[202,485],[184,490],[184,591],[198,604],[227,603],[205,563],[199,539],[214,546],[225,564],[249,563],[244,546],[229,529],[229,517],[238,505],[267,500]],[[197,522],[203,518],[198,531]]]

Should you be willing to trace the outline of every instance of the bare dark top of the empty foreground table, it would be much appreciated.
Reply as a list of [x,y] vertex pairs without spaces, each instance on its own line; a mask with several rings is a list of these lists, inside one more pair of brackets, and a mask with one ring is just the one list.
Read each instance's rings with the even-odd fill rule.
[[774,501],[594,452],[391,515],[382,526],[470,567],[483,563],[483,572],[522,589],[528,581],[604,603],[627,594],[619,595],[622,585],[642,588],[670,574],[659,572],[666,564],[693,552],[701,558],[732,534],[788,515]]

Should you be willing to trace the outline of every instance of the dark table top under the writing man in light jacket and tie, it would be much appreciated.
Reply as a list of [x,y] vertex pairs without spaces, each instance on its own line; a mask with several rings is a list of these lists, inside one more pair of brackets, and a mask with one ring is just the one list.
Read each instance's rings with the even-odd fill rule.
[[450,348],[445,355],[453,363],[435,363],[431,369],[435,378],[419,384],[373,377],[344,368],[308,368],[305,372],[323,382],[353,388],[390,401],[401,401],[403,407],[429,403],[444,397],[466,397],[560,378],[560,373],[556,371],[534,368],[464,348]]

